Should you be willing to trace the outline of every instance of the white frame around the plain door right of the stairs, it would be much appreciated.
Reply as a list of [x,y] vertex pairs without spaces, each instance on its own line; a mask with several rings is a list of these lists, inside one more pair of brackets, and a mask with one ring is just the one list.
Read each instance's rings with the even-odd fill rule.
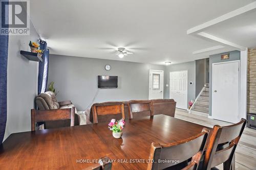
[[218,63],[212,63],[212,67],[211,67],[211,71],[212,71],[212,74],[211,74],[211,117],[214,118],[214,107],[212,106],[212,103],[213,103],[213,98],[212,98],[212,90],[214,89],[214,65],[217,65],[217,64],[226,64],[226,63],[235,63],[237,62],[238,63],[238,117],[237,117],[237,121],[239,122],[240,120],[240,93],[241,93],[241,88],[240,88],[240,84],[241,84],[241,75],[240,75],[240,60],[233,60],[233,61],[224,61],[224,62],[218,62]]

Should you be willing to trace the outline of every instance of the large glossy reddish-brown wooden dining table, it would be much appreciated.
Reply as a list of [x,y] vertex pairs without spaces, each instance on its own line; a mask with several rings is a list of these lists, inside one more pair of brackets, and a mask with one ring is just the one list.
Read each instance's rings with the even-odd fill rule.
[[84,169],[104,156],[112,169],[146,169],[152,142],[176,142],[203,128],[159,114],[125,120],[119,139],[108,123],[14,133],[0,146],[0,169]]

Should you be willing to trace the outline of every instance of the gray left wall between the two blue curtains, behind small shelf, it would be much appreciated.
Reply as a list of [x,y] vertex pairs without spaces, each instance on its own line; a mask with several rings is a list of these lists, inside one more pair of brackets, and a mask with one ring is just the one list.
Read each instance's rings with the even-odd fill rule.
[[30,109],[37,94],[37,62],[20,55],[30,51],[29,41],[38,35],[30,22],[30,36],[9,36],[7,68],[7,124],[4,140],[12,133],[31,130]]

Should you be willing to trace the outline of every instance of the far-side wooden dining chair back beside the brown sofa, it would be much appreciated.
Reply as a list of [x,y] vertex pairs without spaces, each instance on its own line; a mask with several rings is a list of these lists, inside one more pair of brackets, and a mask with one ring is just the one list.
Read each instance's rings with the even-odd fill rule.
[[150,100],[129,101],[128,109],[130,118],[154,115]]

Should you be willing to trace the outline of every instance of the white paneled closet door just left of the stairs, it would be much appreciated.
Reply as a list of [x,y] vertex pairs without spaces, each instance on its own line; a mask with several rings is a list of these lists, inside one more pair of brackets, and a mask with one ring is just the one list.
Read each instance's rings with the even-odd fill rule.
[[187,70],[170,72],[170,99],[177,108],[187,109]]

